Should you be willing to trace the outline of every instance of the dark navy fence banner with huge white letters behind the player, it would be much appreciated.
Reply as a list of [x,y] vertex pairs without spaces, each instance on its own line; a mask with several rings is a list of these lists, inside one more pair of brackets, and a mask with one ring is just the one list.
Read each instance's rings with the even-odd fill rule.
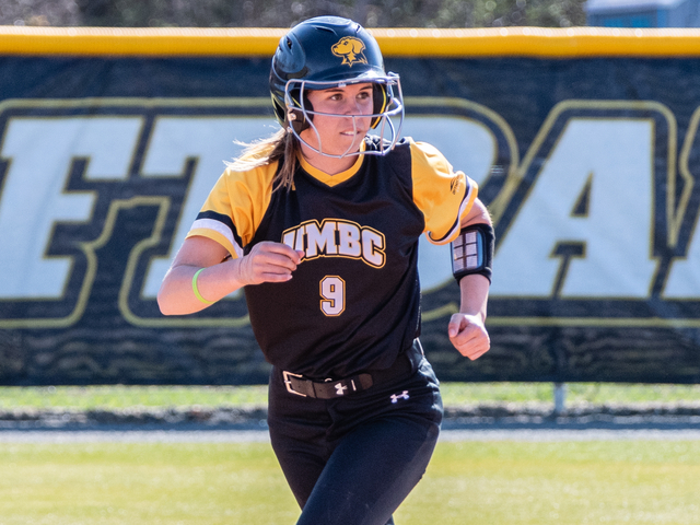
[[[479,184],[488,328],[446,337],[450,248],[421,240],[442,381],[700,381],[700,59],[400,58],[402,135]],[[0,56],[0,383],[264,383],[242,294],[155,296],[224,161],[273,133],[259,58]]]

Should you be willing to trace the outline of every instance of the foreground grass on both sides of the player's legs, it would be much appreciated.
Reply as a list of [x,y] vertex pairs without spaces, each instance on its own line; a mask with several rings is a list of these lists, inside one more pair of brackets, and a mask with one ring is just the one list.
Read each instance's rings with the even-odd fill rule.
[[[441,442],[398,525],[700,524],[700,442]],[[0,446],[2,525],[292,524],[266,443]]]

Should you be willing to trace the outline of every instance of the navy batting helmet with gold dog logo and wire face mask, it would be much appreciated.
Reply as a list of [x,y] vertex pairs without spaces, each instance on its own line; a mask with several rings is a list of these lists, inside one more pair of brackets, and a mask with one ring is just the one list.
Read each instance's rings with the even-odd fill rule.
[[[322,114],[316,112],[306,94],[310,91],[371,83],[373,113],[370,115]],[[397,74],[384,71],[384,61],[376,40],[359,24],[339,18],[319,16],[293,27],[280,39],[272,58],[270,93],[275,114],[302,143],[326,156],[345,158],[359,154],[388,153],[400,136],[404,103]],[[352,118],[355,131],[359,118],[371,118],[371,128],[383,138],[378,150],[330,154],[324,148],[314,125],[314,115]],[[395,124],[390,117],[395,117]],[[304,141],[301,132],[312,128],[317,147]],[[326,151],[324,151],[326,150]]]

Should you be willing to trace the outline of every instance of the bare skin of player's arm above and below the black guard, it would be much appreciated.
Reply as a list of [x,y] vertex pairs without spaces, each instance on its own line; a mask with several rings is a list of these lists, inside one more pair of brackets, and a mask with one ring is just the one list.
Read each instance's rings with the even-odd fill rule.
[[[486,206],[478,198],[460,222],[463,230],[476,224],[492,225]],[[459,279],[459,312],[451,317],[447,332],[459,353],[470,360],[483,355],[491,348],[485,325],[490,284],[482,273],[469,273]]]

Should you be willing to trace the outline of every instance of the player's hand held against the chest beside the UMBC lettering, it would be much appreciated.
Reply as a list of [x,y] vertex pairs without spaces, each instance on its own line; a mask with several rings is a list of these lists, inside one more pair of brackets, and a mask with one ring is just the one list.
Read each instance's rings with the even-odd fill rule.
[[258,243],[253,246],[250,253],[237,259],[235,278],[244,285],[289,281],[301,262],[302,255],[302,252],[282,243]]

